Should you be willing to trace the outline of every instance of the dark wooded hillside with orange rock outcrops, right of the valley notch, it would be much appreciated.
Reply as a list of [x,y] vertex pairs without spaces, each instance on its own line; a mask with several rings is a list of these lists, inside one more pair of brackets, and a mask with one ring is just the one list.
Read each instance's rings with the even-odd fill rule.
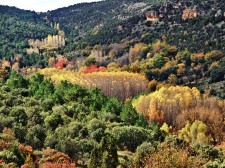
[[[224,51],[224,9],[222,0],[108,0],[57,9],[46,15],[50,22],[61,23],[68,42],[152,42],[165,35],[171,45],[182,49]],[[146,18],[149,11],[156,20]],[[143,35],[145,38],[141,38]]]

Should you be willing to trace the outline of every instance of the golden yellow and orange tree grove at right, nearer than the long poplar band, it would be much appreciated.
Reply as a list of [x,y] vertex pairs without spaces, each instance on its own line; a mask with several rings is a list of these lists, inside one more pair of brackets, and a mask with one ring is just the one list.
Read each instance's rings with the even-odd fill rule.
[[149,95],[140,96],[133,102],[137,112],[148,121],[166,122],[181,129],[187,121],[200,120],[207,126],[211,140],[222,141],[225,102],[200,94],[196,88],[170,86]]

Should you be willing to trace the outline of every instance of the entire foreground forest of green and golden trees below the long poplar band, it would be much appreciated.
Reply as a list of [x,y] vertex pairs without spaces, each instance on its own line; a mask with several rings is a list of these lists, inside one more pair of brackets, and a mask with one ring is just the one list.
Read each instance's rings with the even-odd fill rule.
[[224,164],[225,102],[196,88],[163,87],[120,101],[97,88],[55,85],[39,72],[29,80],[1,74],[3,167]]

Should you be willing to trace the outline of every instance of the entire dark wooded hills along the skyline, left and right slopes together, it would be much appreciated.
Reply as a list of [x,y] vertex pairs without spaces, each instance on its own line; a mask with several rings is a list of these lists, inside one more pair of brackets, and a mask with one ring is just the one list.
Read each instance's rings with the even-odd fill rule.
[[52,23],[65,32],[64,53],[121,41],[151,43],[163,35],[181,49],[224,52],[224,9],[222,0],[106,0],[40,14],[0,6],[0,58],[25,54],[27,40],[56,34]]

